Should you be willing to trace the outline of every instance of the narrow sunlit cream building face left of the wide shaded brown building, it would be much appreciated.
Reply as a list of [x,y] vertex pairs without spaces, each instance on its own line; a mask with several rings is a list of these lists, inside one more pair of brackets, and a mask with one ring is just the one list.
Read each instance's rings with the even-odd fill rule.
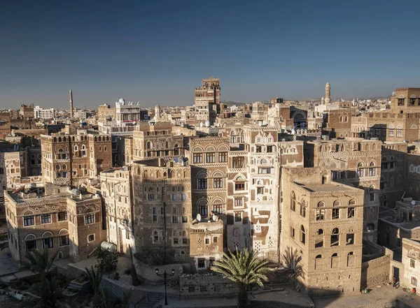
[[99,179],[106,208],[108,242],[115,244],[123,254],[129,253],[130,247],[135,251],[131,171],[127,167],[102,171]]

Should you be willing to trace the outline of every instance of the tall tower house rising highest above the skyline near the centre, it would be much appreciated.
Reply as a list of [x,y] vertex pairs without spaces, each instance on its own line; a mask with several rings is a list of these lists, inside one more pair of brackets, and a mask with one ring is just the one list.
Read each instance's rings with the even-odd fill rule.
[[202,86],[195,88],[194,107],[196,124],[213,125],[221,113],[221,79],[202,79]]

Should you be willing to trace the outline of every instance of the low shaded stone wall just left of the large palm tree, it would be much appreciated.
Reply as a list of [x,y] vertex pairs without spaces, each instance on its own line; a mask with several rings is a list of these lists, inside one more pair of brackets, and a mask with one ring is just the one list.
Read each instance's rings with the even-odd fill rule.
[[234,297],[238,289],[219,274],[183,274],[179,277],[181,298]]

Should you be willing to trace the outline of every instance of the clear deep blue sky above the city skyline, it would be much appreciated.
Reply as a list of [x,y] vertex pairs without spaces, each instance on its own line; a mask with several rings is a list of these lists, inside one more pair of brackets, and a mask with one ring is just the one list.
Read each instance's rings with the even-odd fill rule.
[[388,96],[420,87],[420,1],[2,1],[0,108]]

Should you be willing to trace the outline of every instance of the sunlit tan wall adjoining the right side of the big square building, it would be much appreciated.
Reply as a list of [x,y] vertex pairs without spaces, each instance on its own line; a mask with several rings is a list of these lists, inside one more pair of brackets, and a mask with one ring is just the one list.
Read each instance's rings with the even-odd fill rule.
[[389,281],[392,251],[386,249],[385,256],[362,263],[362,277],[360,288],[377,286]]

